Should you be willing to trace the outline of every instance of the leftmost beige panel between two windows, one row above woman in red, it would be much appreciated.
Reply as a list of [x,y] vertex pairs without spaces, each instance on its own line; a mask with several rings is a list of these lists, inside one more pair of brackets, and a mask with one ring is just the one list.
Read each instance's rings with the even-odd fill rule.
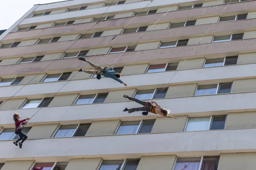
[[52,102],[50,102],[49,107],[72,105],[78,95],[79,94],[57,95],[52,99]]

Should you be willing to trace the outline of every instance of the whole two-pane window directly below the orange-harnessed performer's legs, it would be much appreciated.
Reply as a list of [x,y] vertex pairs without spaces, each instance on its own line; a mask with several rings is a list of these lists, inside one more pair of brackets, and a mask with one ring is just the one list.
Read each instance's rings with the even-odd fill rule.
[[116,134],[150,133],[155,120],[121,122]]

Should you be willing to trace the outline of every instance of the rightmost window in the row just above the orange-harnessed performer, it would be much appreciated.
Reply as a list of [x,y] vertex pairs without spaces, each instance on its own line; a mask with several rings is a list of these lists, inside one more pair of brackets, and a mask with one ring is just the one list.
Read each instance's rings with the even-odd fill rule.
[[195,96],[230,93],[231,87],[232,87],[232,82],[212,84],[212,85],[198,85]]

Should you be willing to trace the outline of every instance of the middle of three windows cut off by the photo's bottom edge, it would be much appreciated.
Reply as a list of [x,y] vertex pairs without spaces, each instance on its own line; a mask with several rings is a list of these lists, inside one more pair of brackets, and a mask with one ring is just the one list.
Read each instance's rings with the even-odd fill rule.
[[140,159],[104,160],[99,170],[136,170]]

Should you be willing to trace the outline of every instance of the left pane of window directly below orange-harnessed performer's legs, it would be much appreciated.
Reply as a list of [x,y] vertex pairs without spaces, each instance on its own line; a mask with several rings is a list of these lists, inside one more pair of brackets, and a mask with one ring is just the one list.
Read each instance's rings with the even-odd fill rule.
[[140,125],[140,121],[121,122],[116,134],[136,133],[139,125]]

